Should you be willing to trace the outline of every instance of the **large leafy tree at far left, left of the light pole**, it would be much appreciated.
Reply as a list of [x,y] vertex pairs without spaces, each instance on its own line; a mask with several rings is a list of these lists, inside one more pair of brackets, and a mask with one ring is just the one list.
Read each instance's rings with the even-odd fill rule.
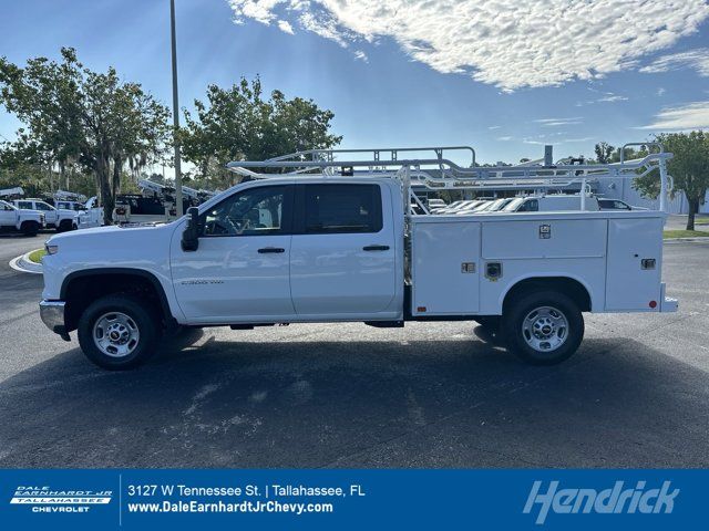
[[61,56],[30,59],[24,69],[0,58],[0,103],[27,125],[19,147],[32,146],[35,162],[58,166],[62,175],[76,164],[95,176],[111,219],[124,166],[135,171],[160,156],[169,112],[113,67],[92,72],[70,48]]

